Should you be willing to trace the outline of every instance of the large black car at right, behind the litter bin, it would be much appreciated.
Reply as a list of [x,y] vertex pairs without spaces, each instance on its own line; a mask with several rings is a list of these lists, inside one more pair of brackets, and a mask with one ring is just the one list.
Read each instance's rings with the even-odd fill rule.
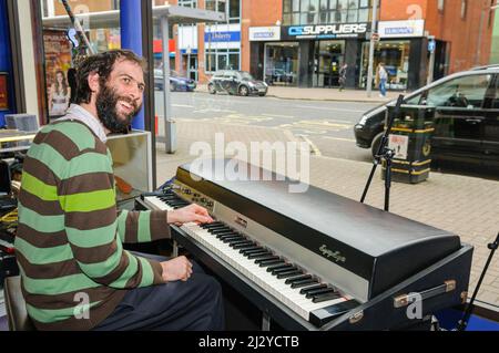
[[[434,167],[483,170],[499,175],[499,65],[440,79],[407,95],[404,104],[435,106]],[[378,150],[387,105],[364,114],[355,125],[357,146]]]

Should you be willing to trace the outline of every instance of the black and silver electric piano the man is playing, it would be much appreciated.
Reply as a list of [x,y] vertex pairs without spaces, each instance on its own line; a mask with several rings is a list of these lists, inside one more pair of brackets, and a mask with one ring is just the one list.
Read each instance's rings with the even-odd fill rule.
[[220,177],[234,160],[210,164],[180,166],[142,204],[210,211],[215,222],[172,237],[247,297],[264,329],[271,318],[289,330],[405,330],[466,301],[472,247],[458,236],[314,186],[289,193],[295,180],[243,162],[238,179]]

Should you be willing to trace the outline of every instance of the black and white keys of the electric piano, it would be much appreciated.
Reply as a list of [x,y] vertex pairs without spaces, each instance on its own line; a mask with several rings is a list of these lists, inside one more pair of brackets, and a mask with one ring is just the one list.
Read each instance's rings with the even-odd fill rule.
[[[173,193],[145,197],[144,201],[151,208],[160,210],[173,210],[190,205]],[[359,302],[343,295],[334,285],[322,282],[316,276],[307,273],[275,250],[257,243],[220,220],[202,226],[186,224],[181,229],[315,325],[325,323],[322,319],[324,314],[328,316],[327,321],[330,321],[332,315],[340,315],[359,305]],[[317,311],[320,311],[320,314]]]

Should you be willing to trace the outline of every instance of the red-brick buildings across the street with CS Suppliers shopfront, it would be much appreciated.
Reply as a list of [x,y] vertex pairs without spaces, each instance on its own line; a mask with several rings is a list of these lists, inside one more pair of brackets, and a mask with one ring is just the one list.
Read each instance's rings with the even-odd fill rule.
[[[154,0],[156,6],[164,0]],[[171,61],[176,71],[207,82],[218,70],[249,71],[271,84],[334,87],[348,64],[347,86],[365,87],[371,0],[171,0],[171,4],[227,12],[226,23],[175,27]],[[55,1],[55,12],[63,8]],[[77,1],[90,11],[116,1]],[[487,64],[491,55],[492,0],[379,0],[375,66],[384,62],[389,89]],[[154,31],[160,39],[159,29]],[[435,45],[429,43],[435,40]],[[171,45],[172,46],[172,45]],[[430,49],[430,50],[429,50]],[[161,51],[156,50],[157,63]],[[174,58],[174,59],[173,59]]]

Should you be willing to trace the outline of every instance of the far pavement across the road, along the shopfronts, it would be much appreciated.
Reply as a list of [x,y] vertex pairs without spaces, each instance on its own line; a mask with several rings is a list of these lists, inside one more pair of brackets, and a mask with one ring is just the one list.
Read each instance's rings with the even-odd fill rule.
[[[195,92],[208,93],[207,85],[200,84]],[[388,92],[386,97],[379,96],[379,91],[373,89],[370,97],[367,96],[364,90],[345,90],[339,92],[337,87],[334,89],[299,89],[299,87],[283,87],[269,86],[267,96],[281,100],[305,100],[305,101],[333,101],[333,102],[363,102],[363,103],[386,103],[396,100],[405,92]]]

